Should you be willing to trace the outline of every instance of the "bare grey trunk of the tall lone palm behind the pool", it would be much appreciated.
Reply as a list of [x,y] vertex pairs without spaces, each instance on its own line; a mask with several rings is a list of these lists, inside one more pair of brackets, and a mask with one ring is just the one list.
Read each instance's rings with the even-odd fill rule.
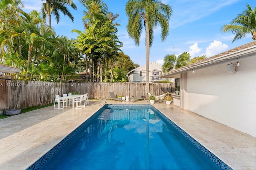
[[[149,90],[149,26],[146,23],[146,91],[150,92]],[[146,95],[146,99],[148,95]]]

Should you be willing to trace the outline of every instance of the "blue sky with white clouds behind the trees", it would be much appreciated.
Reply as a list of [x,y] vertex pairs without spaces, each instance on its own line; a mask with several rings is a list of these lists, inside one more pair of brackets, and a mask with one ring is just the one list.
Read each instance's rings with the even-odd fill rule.
[[[108,10],[114,14],[119,14],[118,39],[123,43],[121,48],[125,55],[140,66],[146,64],[145,31],[142,31],[140,45],[135,45],[130,39],[126,30],[128,17],[125,14],[125,5],[128,0],[103,0]],[[23,10],[40,12],[42,0],[22,0]],[[52,16],[52,27],[56,35],[75,38],[77,33],[72,33],[73,29],[84,31],[82,16],[84,6],[79,0],[73,0],[77,10],[69,8],[74,16],[74,23],[66,16],[61,15],[60,22],[56,24],[55,17]],[[172,6],[172,16],[169,21],[169,35],[164,42],[161,41],[160,27],[154,29],[154,41],[150,48],[150,62],[163,64],[166,55],[180,55],[189,52],[191,58],[206,55],[212,57],[229,49],[252,42],[252,36],[236,40],[232,33],[222,33],[221,27],[229,24],[238,14],[246,10],[246,4],[252,9],[256,6],[254,0],[162,0],[164,4]]]

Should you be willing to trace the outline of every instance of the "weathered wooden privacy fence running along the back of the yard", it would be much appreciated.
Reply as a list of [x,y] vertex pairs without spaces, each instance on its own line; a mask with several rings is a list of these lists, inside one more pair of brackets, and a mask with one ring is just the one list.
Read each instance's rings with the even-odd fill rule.
[[[55,95],[63,96],[70,92],[88,93],[89,98],[110,98],[108,92],[116,95],[136,96],[142,92],[146,96],[146,83],[60,83],[0,79],[0,109],[24,109],[51,104]],[[174,92],[174,83],[150,83],[150,93],[156,96]]]

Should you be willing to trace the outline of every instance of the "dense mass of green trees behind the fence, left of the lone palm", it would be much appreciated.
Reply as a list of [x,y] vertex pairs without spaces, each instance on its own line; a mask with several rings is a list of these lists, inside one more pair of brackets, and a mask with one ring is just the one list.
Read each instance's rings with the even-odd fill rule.
[[[82,18],[86,29],[74,30],[77,39],[68,39],[55,35],[44,14],[24,12],[20,0],[1,1],[0,63],[22,70],[15,77],[20,80],[66,82],[76,80],[79,72],[88,73],[88,82],[119,81],[123,75],[127,80],[128,69],[136,64],[118,53],[122,47],[117,37],[118,14],[109,12],[101,0],[81,2],[86,3]],[[116,64],[121,59],[122,69]]]

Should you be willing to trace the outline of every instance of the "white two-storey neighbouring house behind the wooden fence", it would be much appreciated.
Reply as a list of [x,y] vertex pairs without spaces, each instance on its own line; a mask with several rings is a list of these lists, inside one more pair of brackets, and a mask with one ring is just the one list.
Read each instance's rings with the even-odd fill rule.
[[[134,68],[128,73],[128,82],[146,82],[146,65]],[[149,63],[149,82],[165,80],[159,78],[162,74],[162,65],[156,62]]]

